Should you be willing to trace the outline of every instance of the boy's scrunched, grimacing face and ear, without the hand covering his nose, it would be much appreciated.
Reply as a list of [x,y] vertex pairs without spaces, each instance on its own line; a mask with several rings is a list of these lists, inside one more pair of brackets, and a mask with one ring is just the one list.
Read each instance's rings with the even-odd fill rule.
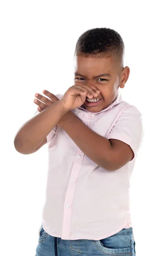
[[[103,73],[110,76],[99,76]],[[121,68],[114,57],[85,58],[78,55],[74,57],[74,76],[75,85],[86,85],[100,91],[98,97],[95,97],[101,99],[97,105],[87,106],[86,102],[83,104],[86,110],[95,113],[107,108],[115,100],[118,88],[123,88],[129,77],[129,67]],[[99,77],[94,78],[95,76]]]

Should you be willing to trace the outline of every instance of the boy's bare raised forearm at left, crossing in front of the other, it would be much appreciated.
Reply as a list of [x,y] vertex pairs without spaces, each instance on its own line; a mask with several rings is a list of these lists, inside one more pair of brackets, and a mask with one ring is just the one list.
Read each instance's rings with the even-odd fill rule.
[[27,121],[14,138],[14,147],[20,153],[35,150],[67,112],[58,102]]

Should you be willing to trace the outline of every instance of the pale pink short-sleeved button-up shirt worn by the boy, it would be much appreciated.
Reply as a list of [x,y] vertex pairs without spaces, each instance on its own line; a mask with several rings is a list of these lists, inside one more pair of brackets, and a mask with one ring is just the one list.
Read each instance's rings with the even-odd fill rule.
[[129,179],[144,137],[142,117],[135,106],[122,99],[120,91],[115,101],[100,112],[89,112],[83,105],[72,112],[101,136],[128,144],[135,157],[116,171],[105,170],[55,126],[47,136],[49,164],[43,229],[61,239],[101,240],[132,227]]

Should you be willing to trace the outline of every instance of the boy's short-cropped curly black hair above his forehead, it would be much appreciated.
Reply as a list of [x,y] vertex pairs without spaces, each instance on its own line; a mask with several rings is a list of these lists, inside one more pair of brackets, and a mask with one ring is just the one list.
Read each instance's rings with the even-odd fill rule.
[[75,55],[92,58],[114,56],[124,67],[124,41],[114,29],[89,29],[78,38]]

